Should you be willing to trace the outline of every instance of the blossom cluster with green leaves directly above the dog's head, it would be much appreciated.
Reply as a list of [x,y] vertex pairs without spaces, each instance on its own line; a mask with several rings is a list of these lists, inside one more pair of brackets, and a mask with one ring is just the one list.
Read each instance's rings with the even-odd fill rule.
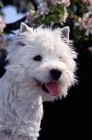
[[69,5],[70,0],[42,0],[37,11],[31,9],[27,13],[28,23],[31,26],[34,24],[63,24],[68,17],[67,7]]

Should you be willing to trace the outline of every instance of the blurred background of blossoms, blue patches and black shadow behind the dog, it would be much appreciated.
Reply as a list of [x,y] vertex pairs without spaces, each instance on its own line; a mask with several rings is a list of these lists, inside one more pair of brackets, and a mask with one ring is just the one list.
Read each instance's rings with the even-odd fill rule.
[[70,27],[78,52],[78,84],[62,100],[44,103],[39,140],[92,140],[92,0],[0,0],[0,78],[20,23]]

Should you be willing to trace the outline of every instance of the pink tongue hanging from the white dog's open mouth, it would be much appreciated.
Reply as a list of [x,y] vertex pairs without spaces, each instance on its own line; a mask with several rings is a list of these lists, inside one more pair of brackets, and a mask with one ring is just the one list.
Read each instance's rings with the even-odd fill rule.
[[45,87],[48,89],[49,93],[52,96],[56,96],[59,94],[59,85],[57,83],[46,83]]

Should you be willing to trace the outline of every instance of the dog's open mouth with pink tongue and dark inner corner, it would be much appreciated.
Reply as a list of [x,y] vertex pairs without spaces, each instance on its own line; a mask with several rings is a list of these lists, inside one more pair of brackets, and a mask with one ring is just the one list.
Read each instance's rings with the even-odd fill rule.
[[43,83],[36,80],[36,82],[41,86],[42,90],[44,90],[46,93],[49,93],[52,96],[57,96],[60,92],[60,86],[57,82],[49,82],[49,83]]

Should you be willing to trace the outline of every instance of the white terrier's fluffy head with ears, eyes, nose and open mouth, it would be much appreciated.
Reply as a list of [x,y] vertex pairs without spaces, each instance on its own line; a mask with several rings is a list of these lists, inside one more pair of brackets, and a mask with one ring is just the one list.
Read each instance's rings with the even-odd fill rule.
[[68,27],[33,30],[24,23],[9,55],[10,65],[16,71],[20,69],[25,82],[47,101],[66,96],[68,88],[75,83],[75,58]]

